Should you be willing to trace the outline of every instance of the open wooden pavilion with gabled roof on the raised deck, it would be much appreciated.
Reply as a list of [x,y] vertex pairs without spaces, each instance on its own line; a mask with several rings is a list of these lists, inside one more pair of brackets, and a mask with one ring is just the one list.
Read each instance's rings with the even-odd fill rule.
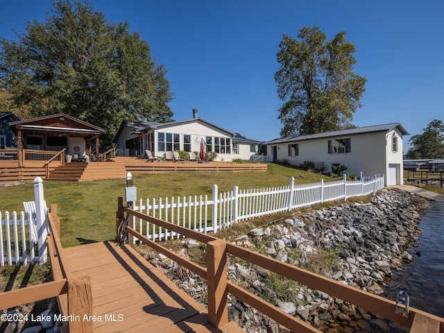
[[106,133],[103,128],[62,113],[14,121],[9,125],[17,136],[19,149],[61,151],[66,148],[68,155],[87,155],[90,159],[94,141],[98,156],[99,137]]

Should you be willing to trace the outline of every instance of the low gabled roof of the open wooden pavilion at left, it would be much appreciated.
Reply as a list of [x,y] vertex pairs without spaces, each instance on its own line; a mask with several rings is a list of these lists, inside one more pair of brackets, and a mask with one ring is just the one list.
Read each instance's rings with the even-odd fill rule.
[[13,121],[9,126],[17,133],[18,129],[32,133],[69,134],[86,137],[89,135],[102,135],[106,130],[94,126],[86,121],[69,116],[65,113],[51,114],[20,121]]

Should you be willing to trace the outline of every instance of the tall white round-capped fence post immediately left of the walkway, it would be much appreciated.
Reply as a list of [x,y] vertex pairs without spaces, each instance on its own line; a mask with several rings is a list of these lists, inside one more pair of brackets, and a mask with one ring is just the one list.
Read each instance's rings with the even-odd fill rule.
[[37,223],[37,245],[39,248],[39,262],[44,264],[48,255],[48,229],[46,228],[46,205],[43,195],[43,180],[34,179],[35,221]]

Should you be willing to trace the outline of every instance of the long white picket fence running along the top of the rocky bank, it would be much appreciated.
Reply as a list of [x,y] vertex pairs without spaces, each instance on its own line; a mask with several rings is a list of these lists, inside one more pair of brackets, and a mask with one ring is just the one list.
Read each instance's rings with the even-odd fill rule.
[[[361,177],[361,180],[347,181],[345,176],[335,182],[320,182],[295,185],[294,178],[288,186],[264,189],[244,189],[234,186],[232,191],[219,193],[213,186],[212,198],[205,196],[183,196],[142,198],[132,203],[133,208],[144,214],[169,221],[198,232],[214,232],[228,228],[233,223],[253,219],[257,216],[286,212],[298,207],[332,200],[346,200],[352,196],[375,194],[384,187],[384,175]],[[176,232],[159,228],[153,223],[133,217],[132,227],[148,239],[166,240],[182,237]]]

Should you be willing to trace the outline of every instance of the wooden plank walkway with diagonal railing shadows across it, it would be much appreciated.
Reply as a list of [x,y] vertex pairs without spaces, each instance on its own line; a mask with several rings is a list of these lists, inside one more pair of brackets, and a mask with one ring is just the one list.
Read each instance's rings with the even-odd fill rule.
[[64,252],[74,276],[92,278],[94,332],[245,332],[235,323],[213,327],[202,305],[130,246],[92,243]]

